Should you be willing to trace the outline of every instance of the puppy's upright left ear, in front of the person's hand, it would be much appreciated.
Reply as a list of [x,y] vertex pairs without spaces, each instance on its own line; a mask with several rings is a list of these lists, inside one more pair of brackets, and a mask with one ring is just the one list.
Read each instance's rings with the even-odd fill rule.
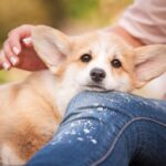
[[32,29],[32,42],[34,50],[52,72],[68,56],[71,49],[69,37],[45,25]]

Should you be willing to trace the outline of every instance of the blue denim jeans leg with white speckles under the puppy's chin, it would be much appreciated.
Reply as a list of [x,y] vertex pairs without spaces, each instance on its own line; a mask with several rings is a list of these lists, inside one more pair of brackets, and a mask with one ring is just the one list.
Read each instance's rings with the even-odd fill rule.
[[166,102],[83,92],[28,166],[166,166]]

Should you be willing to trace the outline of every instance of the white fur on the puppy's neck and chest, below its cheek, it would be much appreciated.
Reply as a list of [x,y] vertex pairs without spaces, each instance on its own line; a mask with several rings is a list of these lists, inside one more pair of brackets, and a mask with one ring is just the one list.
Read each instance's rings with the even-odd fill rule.
[[60,114],[63,116],[72,97],[81,92],[79,85],[69,77],[59,81],[58,77],[50,72],[45,72],[43,77],[45,83],[44,86],[49,95],[54,102],[55,107],[60,111]]

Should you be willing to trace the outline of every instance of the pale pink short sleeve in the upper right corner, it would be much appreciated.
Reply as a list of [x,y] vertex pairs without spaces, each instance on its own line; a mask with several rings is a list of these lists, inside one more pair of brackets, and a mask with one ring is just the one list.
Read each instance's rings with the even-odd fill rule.
[[166,43],[166,0],[135,0],[118,24],[145,44]]

